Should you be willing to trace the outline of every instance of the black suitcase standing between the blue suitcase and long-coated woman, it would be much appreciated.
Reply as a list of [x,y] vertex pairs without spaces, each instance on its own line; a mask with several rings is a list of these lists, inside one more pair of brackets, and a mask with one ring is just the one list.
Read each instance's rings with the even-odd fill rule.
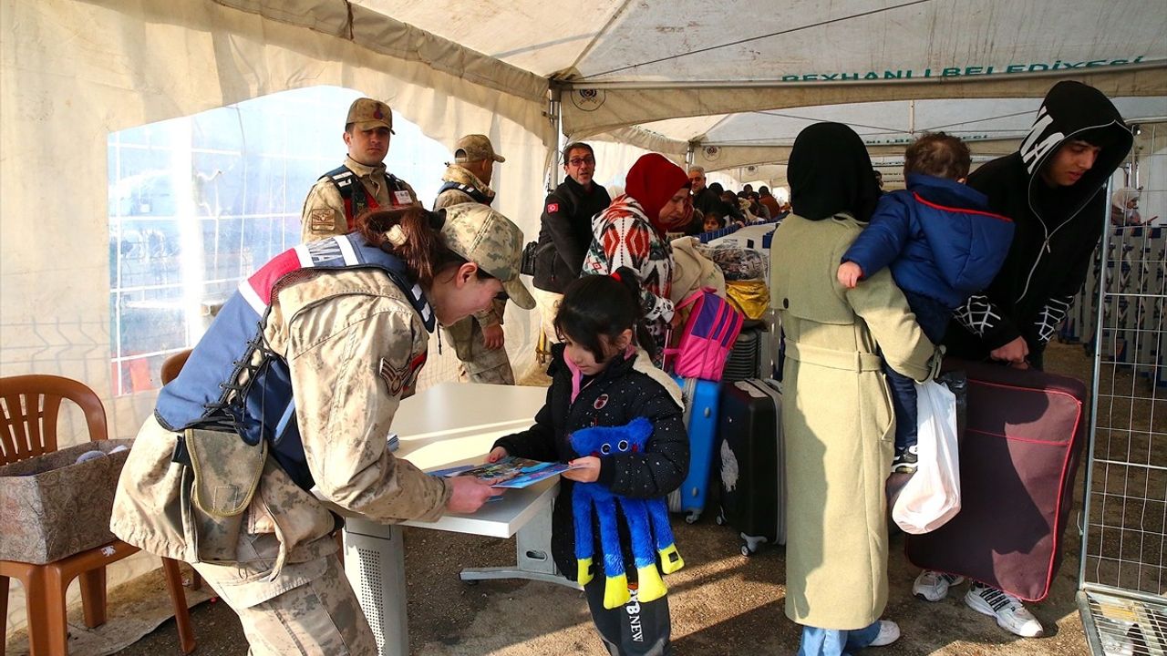
[[775,385],[753,378],[721,391],[718,524],[739,531],[742,556],[787,543],[782,393]]

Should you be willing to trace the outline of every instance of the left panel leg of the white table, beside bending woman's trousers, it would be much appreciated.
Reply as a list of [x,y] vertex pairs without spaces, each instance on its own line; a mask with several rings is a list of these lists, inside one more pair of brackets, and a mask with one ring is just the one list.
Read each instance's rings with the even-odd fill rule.
[[344,574],[377,638],[379,656],[407,656],[401,528],[357,517],[345,519]]

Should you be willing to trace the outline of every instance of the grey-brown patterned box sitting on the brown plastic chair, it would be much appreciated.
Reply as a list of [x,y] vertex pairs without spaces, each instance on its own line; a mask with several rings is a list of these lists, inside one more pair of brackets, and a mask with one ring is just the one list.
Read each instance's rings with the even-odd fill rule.
[[[100,440],[0,467],[0,559],[44,564],[114,539],[110,514],[133,440]],[[77,462],[90,451],[106,455]]]

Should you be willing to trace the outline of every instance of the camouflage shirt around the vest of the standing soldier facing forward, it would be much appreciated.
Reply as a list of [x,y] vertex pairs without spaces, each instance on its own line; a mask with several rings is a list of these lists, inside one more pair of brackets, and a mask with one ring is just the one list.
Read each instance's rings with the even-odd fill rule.
[[[397,180],[405,187],[401,194],[408,195],[407,201],[404,195],[398,197],[398,193],[389,188],[385,179],[385,165],[370,167],[345,156],[344,166],[359,177],[365,191],[377,201],[379,208],[390,209],[407,204],[421,204],[408,182]],[[328,177],[317,180],[303,202],[303,211],[300,216],[300,240],[312,242],[333,235],[344,235],[349,232],[348,222],[349,217],[344,214],[344,198],[341,197],[336,184]]]

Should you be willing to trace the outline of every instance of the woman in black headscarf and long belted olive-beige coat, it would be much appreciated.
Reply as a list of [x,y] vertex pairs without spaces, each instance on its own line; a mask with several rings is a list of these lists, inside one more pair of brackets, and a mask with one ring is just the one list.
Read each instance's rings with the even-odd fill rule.
[[[774,233],[771,303],[785,333],[787,602],[799,656],[839,656],[900,636],[887,603],[883,481],[895,437],[876,343],[896,370],[930,375],[934,347],[885,270],[847,289],[834,272],[875,209],[862,140],[820,123],[795,140],[794,210]],[[937,358],[938,360],[938,358]]]

